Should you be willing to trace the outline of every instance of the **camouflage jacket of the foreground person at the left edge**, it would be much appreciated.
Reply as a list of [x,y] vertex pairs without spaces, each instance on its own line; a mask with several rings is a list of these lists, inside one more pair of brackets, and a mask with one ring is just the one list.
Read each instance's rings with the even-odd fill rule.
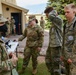
[[11,66],[8,67],[9,65],[7,66],[7,64],[5,63],[7,59],[8,59],[8,55],[6,52],[5,44],[0,39],[0,74],[1,75],[11,75],[11,69],[10,69]]

